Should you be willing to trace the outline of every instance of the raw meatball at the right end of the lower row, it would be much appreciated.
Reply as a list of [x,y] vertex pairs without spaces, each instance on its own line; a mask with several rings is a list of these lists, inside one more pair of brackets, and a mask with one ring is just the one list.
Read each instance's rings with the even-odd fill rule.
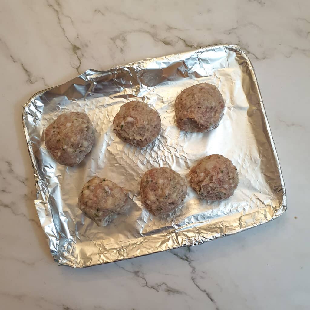
[[193,189],[207,200],[226,199],[234,193],[239,183],[237,168],[218,154],[202,158],[189,172]]

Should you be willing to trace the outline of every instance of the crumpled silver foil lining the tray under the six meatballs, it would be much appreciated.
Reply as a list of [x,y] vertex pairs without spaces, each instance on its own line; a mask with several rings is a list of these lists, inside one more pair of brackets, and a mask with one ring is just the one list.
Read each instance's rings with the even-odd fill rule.
[[[186,87],[208,82],[225,101],[215,130],[186,133],[175,125],[174,101]],[[160,136],[146,148],[120,141],[113,117],[139,100],[162,119]],[[80,165],[61,166],[44,144],[44,129],[60,113],[86,112],[95,142]],[[35,94],[24,105],[24,131],[33,163],[34,200],[51,254],[63,265],[86,267],[181,246],[194,246],[277,218],[286,192],[253,66],[236,45],[136,61],[107,71],[87,70],[73,80]],[[188,184],[182,207],[155,217],[141,206],[144,172],[166,166],[186,177],[204,156],[222,154],[237,167],[232,197],[205,201]],[[130,190],[129,211],[102,228],[78,209],[84,183],[98,175]]]

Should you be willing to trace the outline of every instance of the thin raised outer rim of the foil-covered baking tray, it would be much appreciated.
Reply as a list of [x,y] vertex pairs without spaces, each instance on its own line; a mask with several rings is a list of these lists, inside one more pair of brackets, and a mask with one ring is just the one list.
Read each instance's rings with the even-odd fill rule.
[[[271,219],[265,220],[263,223],[253,224],[253,226],[251,226],[251,227],[248,227],[248,228],[242,229],[242,230],[240,229],[240,230],[237,231],[237,232],[242,232],[242,231],[244,231],[244,230],[247,230],[247,229],[256,227],[256,226],[258,226],[258,225],[260,225],[260,224],[265,224],[265,223],[267,223],[267,222],[269,222],[269,221],[271,221],[271,220],[273,220],[273,219],[276,219],[276,218],[278,218],[279,216],[281,216],[281,215],[286,211],[286,208],[287,208],[287,204],[286,204],[286,188],[285,188],[285,184],[284,184],[284,180],[283,180],[283,175],[282,175],[281,166],[280,166],[279,159],[278,159],[278,156],[277,156],[277,151],[276,151],[275,143],[274,143],[274,140],[273,140],[273,137],[272,137],[272,132],[271,132],[271,129],[270,129],[270,126],[269,126],[269,122],[268,122],[268,118],[267,118],[266,111],[265,111],[265,108],[264,108],[263,100],[262,100],[262,98],[261,98],[261,93],[260,93],[259,85],[258,85],[258,83],[257,83],[255,70],[254,70],[254,67],[253,67],[253,65],[252,65],[252,63],[251,63],[251,61],[250,61],[250,58],[249,58],[248,55],[246,54],[246,52],[245,52],[244,50],[242,50],[241,47],[239,47],[238,45],[235,45],[235,44],[215,44],[215,45],[209,45],[209,46],[206,46],[206,47],[200,47],[200,48],[198,48],[198,49],[196,49],[196,50],[186,51],[186,52],[182,52],[182,53],[175,53],[175,54],[182,55],[182,54],[193,53],[193,52],[196,52],[196,53],[197,53],[198,51],[202,51],[202,50],[207,49],[207,48],[210,48],[210,47],[224,47],[224,48],[228,48],[228,49],[233,50],[233,51],[238,51],[238,52],[240,52],[240,53],[243,55],[243,57],[245,58],[245,60],[246,60],[246,62],[248,63],[248,65],[250,65],[250,67],[251,67],[250,69],[253,70],[254,77],[255,77],[255,84],[256,84],[256,86],[257,86],[257,88],[258,88],[258,94],[259,94],[259,98],[260,98],[260,105],[261,105],[262,110],[263,110],[263,116],[264,116],[264,120],[265,120],[265,125],[267,126],[267,131],[268,131],[268,134],[270,135],[270,138],[271,138],[270,140],[272,141],[272,147],[273,147],[273,150],[274,150],[274,151],[273,151],[273,154],[274,154],[275,159],[276,159],[276,161],[277,161],[277,167],[278,167],[279,176],[280,176],[280,179],[281,179],[281,187],[282,187],[282,190],[283,190],[283,198],[282,198],[282,201],[281,201],[281,205],[279,205],[279,207],[278,207],[278,209],[277,209],[277,214],[274,213],[274,216],[272,216]],[[170,55],[166,55],[166,56],[159,56],[159,57],[169,57],[169,56],[175,55],[175,54],[170,54]],[[157,58],[159,58],[159,57],[147,58],[147,59],[144,59],[144,60],[140,60],[140,62],[154,60],[154,59],[157,59]],[[128,67],[128,66],[130,66],[130,65],[133,64],[133,63],[134,63],[134,62],[131,62],[131,63],[129,63],[129,64],[124,64],[124,65],[117,65],[117,66],[115,66],[114,68],[118,68],[118,67]],[[111,68],[111,69],[113,69],[113,68]],[[69,80],[68,82],[73,81],[73,80],[76,79],[76,78],[82,78],[81,76],[82,76],[83,74],[85,74],[87,71],[92,71],[92,72],[98,74],[98,73],[107,72],[107,71],[109,71],[109,70],[111,70],[111,69],[108,69],[108,70],[105,70],[105,71],[98,71],[98,70],[94,70],[94,69],[88,69],[88,70],[86,70],[85,72],[81,73],[79,76],[77,76],[77,77],[75,77],[75,78]],[[90,79],[89,81],[91,81],[91,79]],[[68,83],[68,82],[66,82],[66,83]],[[30,141],[30,139],[29,139],[28,130],[27,130],[27,127],[26,127],[26,124],[25,124],[25,117],[26,117],[26,114],[27,114],[26,108],[29,107],[29,105],[30,105],[31,103],[33,103],[32,100],[33,100],[36,96],[38,96],[38,95],[40,95],[40,94],[43,94],[43,93],[46,92],[46,91],[50,91],[50,90],[52,90],[52,89],[54,89],[54,88],[57,88],[57,87],[59,87],[59,86],[62,86],[62,85],[64,85],[64,84],[65,84],[65,83],[60,84],[60,85],[57,85],[57,86],[53,86],[53,87],[50,87],[50,88],[47,88],[47,89],[44,89],[44,90],[41,90],[41,91],[38,91],[38,92],[35,93],[33,96],[31,96],[31,97],[29,98],[29,100],[23,105],[23,114],[22,114],[22,118],[23,118],[24,134],[25,134],[25,138],[26,138],[26,142],[27,142],[28,153],[29,153],[29,156],[30,156],[30,159],[31,159],[31,163],[32,163],[32,166],[33,166],[34,180],[35,180],[35,185],[36,185],[36,189],[37,189],[37,199],[35,199],[34,201],[36,201],[36,200],[42,200],[42,201],[44,201],[44,202],[48,202],[47,199],[46,199],[46,197],[44,197],[44,196],[45,196],[45,193],[42,192],[42,188],[39,187],[39,184],[38,184],[38,183],[39,183],[39,181],[42,182],[42,180],[40,179],[40,176],[39,176],[39,174],[38,174],[38,170],[36,169],[36,167],[35,167],[35,165],[34,165],[34,162],[35,162],[34,154],[33,154],[33,152],[32,152],[32,153],[30,152],[30,151],[32,151],[32,143],[31,143],[31,141]],[[40,199],[40,195],[41,195],[41,197],[42,197],[43,199]],[[47,197],[47,198],[48,198],[48,197]],[[37,208],[36,208],[36,210],[37,210]],[[279,211],[280,211],[280,213],[279,213]],[[37,213],[38,213],[38,210],[37,210]],[[51,219],[52,219],[52,217],[51,217]],[[41,224],[41,221],[40,221],[40,224]],[[49,224],[50,224],[50,225],[54,225],[54,228],[56,229],[53,220],[51,220]],[[41,224],[41,226],[42,226],[42,224]],[[46,225],[45,225],[45,226],[46,226]],[[42,227],[42,228],[43,228],[43,227]],[[44,230],[44,229],[43,229],[43,231],[44,231],[44,233],[45,233],[45,230]],[[215,240],[215,239],[217,239],[217,238],[220,238],[220,237],[229,236],[229,235],[235,234],[235,233],[237,233],[237,232],[231,232],[231,233],[228,233],[228,234],[223,234],[223,235],[221,235],[221,236],[215,236],[215,237],[213,237],[212,239],[210,239],[209,241],[213,241],[213,240]],[[47,239],[48,243],[50,244],[50,243],[51,243],[51,240],[50,240],[49,235],[47,235],[47,234],[45,233],[45,236],[46,236],[46,239]],[[58,241],[58,246],[59,246],[59,239],[58,239],[58,237],[57,237],[56,235],[55,235],[55,239],[56,239],[56,241]],[[203,241],[202,243],[204,243],[204,242],[205,242],[205,241]],[[179,247],[185,247],[185,246],[192,246],[192,245],[176,246],[176,247],[172,247],[171,249],[166,249],[166,250],[172,250],[172,249],[176,249],[176,248],[179,248]],[[50,247],[50,248],[51,248],[51,247]],[[164,250],[164,251],[166,251],[166,250]],[[156,251],[154,251],[154,252],[152,252],[152,253],[146,253],[146,254],[144,254],[144,255],[154,254],[154,253],[158,253],[158,252],[162,252],[162,251],[163,251],[163,250],[158,250],[158,251],[156,250]],[[65,264],[62,264],[62,263],[60,263],[60,261],[62,260],[61,255],[60,255],[59,252],[57,251],[57,255],[55,256],[55,253],[54,253],[54,252],[55,252],[54,250],[51,250],[51,254],[52,254],[53,257],[55,258],[55,261],[58,262],[60,265],[63,265],[63,266],[70,266],[70,267],[74,267],[74,268],[86,268],[86,267],[95,266],[95,265],[89,265],[89,266],[74,265],[74,264],[72,264],[71,262],[69,262],[68,260],[66,260],[66,265],[65,265]],[[144,255],[136,255],[136,256],[133,256],[133,257],[131,257],[131,258],[135,258],[135,257],[139,257],[139,256],[144,256]],[[57,257],[57,258],[56,258],[56,257]],[[130,259],[130,258],[124,258],[124,259]],[[117,260],[115,260],[115,261],[121,261],[121,260],[124,260],[124,259],[117,259]],[[98,265],[99,265],[99,264],[105,264],[105,263],[109,263],[109,262],[98,263]],[[96,265],[97,265],[97,264],[96,264]]]

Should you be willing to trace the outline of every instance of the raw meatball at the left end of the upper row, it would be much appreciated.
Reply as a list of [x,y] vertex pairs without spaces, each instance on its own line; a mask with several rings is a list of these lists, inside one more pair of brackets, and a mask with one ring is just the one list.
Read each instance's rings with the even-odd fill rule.
[[45,145],[60,165],[78,165],[94,143],[91,120],[82,112],[63,113],[45,129]]

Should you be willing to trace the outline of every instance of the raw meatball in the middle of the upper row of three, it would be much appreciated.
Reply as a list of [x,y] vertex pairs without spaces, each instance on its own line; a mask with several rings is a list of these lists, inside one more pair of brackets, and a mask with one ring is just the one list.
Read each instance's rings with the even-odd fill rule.
[[156,139],[161,126],[158,112],[139,101],[122,105],[113,120],[117,137],[138,147],[144,147]]

